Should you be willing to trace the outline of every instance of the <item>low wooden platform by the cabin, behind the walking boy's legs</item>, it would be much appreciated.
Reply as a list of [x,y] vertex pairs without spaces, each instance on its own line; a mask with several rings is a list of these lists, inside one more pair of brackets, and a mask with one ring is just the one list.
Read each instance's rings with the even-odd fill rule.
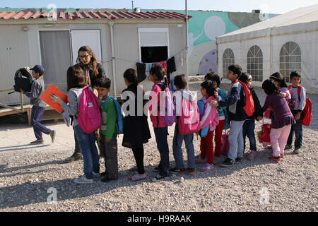
[[[16,109],[21,111],[21,107],[20,105],[18,105],[17,107],[15,107]],[[28,114],[28,124],[31,124],[31,110],[32,110],[32,105],[24,105],[23,106],[23,112],[27,112]],[[1,116],[5,116],[5,115],[9,115],[9,114],[20,114],[20,111],[16,111],[13,109],[0,109],[0,117]],[[52,107],[45,107],[45,113],[43,114],[43,117],[41,119],[41,121],[47,121],[47,120],[54,120],[56,123],[59,119],[63,119],[62,114],[57,112],[54,108]]]

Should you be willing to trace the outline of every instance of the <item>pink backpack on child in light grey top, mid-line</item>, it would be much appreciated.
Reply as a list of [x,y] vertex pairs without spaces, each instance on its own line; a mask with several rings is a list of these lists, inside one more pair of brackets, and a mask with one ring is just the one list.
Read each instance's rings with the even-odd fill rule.
[[196,101],[192,102],[182,97],[181,107],[181,116],[178,117],[179,133],[187,135],[199,131],[200,113]]

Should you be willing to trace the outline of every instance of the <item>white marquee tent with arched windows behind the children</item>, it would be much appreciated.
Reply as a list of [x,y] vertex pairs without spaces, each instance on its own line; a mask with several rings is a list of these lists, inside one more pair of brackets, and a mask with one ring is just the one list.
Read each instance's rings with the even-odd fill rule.
[[235,30],[216,43],[223,76],[233,63],[251,73],[256,85],[276,71],[288,82],[297,70],[307,93],[318,93],[318,4]]

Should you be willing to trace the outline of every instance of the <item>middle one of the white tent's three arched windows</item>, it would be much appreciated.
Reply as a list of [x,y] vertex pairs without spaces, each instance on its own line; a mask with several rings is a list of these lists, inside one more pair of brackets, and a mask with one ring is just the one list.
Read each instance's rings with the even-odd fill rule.
[[247,52],[247,72],[254,81],[263,81],[263,52],[257,45],[253,45]]

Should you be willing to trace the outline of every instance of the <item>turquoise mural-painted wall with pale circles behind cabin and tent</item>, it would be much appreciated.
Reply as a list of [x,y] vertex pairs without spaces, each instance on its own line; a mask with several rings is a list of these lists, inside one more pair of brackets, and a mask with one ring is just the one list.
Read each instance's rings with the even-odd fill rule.
[[[141,11],[165,11],[144,9]],[[173,11],[173,10],[170,10]],[[185,13],[185,11],[176,11]],[[216,37],[244,28],[274,14],[231,13],[220,11],[188,11],[189,16],[189,74],[218,71]]]

